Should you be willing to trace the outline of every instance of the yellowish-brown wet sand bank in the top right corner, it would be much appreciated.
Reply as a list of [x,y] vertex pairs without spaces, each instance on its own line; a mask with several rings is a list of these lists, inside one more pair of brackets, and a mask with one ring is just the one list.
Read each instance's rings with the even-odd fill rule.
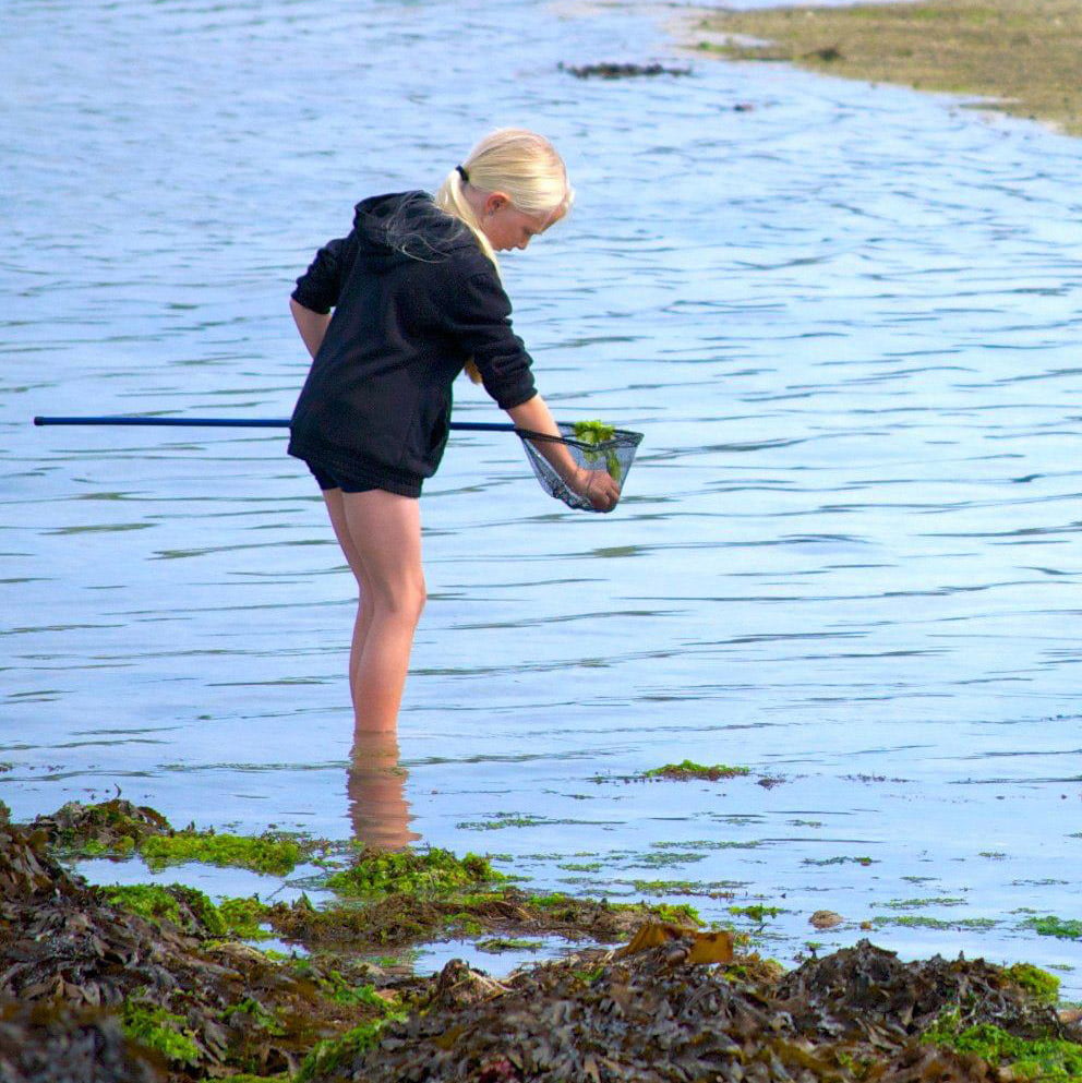
[[938,0],[711,12],[701,52],[985,99],[1082,134],[1082,4]]

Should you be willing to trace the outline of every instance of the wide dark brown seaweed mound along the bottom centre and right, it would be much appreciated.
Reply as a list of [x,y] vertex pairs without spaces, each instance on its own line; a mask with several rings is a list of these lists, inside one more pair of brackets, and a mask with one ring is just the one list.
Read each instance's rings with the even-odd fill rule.
[[979,961],[902,963],[862,941],[779,980],[756,959],[693,964],[690,949],[677,938],[640,953],[542,964],[500,984],[448,965],[422,1010],[313,1079],[1014,1079],[975,1054],[922,1040],[952,1010],[965,1027],[1012,1026],[1069,1049],[1049,1007]]

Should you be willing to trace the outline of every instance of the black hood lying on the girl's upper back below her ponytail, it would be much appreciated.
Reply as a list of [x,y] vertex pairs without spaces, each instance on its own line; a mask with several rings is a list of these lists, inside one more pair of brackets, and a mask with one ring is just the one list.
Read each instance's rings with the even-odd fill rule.
[[458,249],[478,248],[469,227],[441,210],[428,192],[373,195],[354,209],[353,236],[370,268],[438,262]]

